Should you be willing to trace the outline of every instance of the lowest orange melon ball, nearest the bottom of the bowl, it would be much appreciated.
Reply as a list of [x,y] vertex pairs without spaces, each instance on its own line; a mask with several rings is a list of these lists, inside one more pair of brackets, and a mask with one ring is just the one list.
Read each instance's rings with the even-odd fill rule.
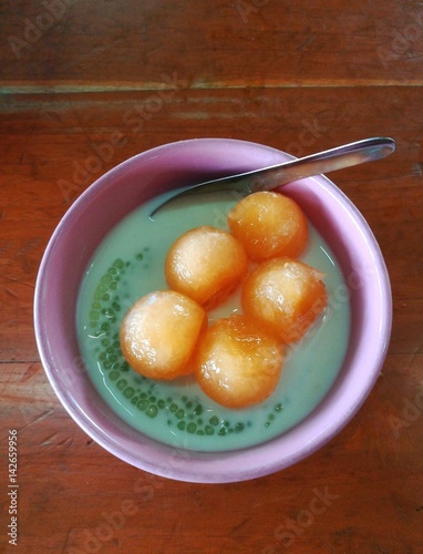
[[216,320],[195,355],[203,391],[227,408],[246,408],[269,397],[282,370],[283,347],[259,322],[244,315]]

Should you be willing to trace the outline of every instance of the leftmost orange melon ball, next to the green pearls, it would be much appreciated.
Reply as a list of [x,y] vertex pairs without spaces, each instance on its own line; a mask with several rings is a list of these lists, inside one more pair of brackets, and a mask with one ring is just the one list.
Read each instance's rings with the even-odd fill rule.
[[190,358],[206,327],[205,310],[190,298],[173,290],[151,293],[122,322],[122,352],[137,373],[174,379],[193,372]]

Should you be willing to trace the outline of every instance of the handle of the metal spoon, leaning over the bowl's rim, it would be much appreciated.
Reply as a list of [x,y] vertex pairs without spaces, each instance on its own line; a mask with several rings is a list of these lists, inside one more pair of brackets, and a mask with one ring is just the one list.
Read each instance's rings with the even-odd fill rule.
[[[311,177],[344,167],[372,162],[388,156],[395,150],[395,141],[374,137],[357,141],[318,154],[285,162],[265,170],[250,172],[251,191],[269,191],[299,178]],[[257,176],[255,176],[257,174]],[[243,175],[243,178],[246,174]],[[231,177],[234,178],[234,177]],[[237,177],[235,177],[237,178]],[[241,178],[241,175],[239,175]]]

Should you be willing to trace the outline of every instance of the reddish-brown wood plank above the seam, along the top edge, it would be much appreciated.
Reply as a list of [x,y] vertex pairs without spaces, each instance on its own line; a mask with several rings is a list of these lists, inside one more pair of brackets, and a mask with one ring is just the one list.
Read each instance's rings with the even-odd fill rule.
[[[4,4],[10,84],[189,88],[422,81],[419,2],[48,0]],[[205,63],[206,61],[206,63]]]

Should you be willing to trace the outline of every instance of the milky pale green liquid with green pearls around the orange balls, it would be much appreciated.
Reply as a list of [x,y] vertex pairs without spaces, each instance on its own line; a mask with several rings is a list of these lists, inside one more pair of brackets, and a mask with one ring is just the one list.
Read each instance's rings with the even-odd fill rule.
[[[118,332],[132,304],[166,289],[164,260],[172,243],[199,225],[226,227],[237,202],[233,193],[179,198],[148,217],[155,198],[123,219],[93,256],[81,285],[76,328],[86,370],[105,402],[145,435],[177,448],[216,452],[243,449],[286,432],[327,394],[341,368],[349,337],[350,307],[338,263],[309,225],[300,259],[326,274],[329,305],[308,335],[286,350],[280,382],[270,398],[244,409],[210,400],[189,376],[171,382],[141,377],[124,360]],[[239,291],[209,312],[240,312]]]

